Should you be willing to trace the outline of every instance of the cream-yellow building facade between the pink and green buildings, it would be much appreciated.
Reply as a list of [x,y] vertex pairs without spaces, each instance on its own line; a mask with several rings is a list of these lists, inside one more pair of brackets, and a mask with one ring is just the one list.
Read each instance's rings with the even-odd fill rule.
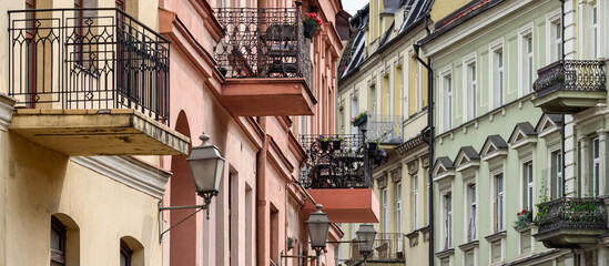
[[[362,111],[372,113],[367,139],[384,135],[372,129],[388,123],[379,117],[394,117],[389,123],[395,121],[399,127],[398,141],[379,139],[388,156],[384,164],[375,166],[373,174],[380,219],[375,224],[378,234],[368,265],[428,264],[428,153],[420,135],[427,125],[427,76],[425,68],[416,62],[412,45],[423,39],[426,31],[423,18],[410,17],[425,9],[425,4],[426,1],[418,1],[388,13],[383,12],[383,1],[369,1],[369,6],[352,18],[352,27],[354,20],[369,21],[361,25],[365,34],[364,54],[358,58],[357,52],[352,51],[351,58],[343,59],[347,63],[342,76],[339,71],[337,132],[359,134],[359,130],[351,125],[351,117]],[[351,62],[358,60],[356,69]],[[356,238],[358,227],[358,224],[342,224],[343,241]],[[342,244],[338,256],[346,265],[354,265],[361,258],[352,244]]]

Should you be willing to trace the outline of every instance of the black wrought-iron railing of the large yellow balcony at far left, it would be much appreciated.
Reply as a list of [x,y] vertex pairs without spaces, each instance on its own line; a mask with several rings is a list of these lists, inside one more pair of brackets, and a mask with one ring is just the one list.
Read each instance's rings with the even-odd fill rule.
[[27,108],[170,117],[170,42],[119,9],[9,11],[9,94]]

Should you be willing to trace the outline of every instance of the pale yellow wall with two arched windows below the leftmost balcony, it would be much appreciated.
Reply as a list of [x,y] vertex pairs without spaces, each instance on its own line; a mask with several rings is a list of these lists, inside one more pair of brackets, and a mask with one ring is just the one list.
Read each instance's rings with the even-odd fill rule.
[[[118,265],[120,238],[144,246],[145,265],[161,265],[159,198],[85,168],[60,153],[10,133],[6,193],[6,260],[2,265],[48,265],[51,215],[61,213],[79,227],[80,265]],[[8,176],[7,176],[8,175]],[[73,249],[73,248],[72,248]],[[70,253],[70,249],[67,250]]]

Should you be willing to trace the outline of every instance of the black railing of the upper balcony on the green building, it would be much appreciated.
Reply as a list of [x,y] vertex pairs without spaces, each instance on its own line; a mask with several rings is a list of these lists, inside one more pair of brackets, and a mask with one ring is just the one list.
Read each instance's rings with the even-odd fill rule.
[[537,96],[555,91],[606,91],[605,61],[559,60],[537,71]]

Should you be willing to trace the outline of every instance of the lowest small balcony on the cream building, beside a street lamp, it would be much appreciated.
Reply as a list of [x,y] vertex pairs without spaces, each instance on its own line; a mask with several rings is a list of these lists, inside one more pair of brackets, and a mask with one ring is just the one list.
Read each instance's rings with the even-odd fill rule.
[[[357,241],[357,239],[354,239]],[[373,252],[366,257],[366,263],[383,265],[404,265],[404,234],[400,233],[377,233],[374,238]],[[358,243],[352,243],[352,257],[346,265],[363,265],[364,257],[359,254]]]

